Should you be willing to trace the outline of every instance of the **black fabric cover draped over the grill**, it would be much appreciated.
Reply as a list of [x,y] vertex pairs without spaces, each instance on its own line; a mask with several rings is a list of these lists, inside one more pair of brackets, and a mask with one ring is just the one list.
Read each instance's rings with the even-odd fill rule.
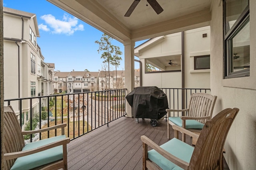
[[166,94],[156,87],[137,87],[126,96],[135,118],[160,119],[166,115],[168,100]]

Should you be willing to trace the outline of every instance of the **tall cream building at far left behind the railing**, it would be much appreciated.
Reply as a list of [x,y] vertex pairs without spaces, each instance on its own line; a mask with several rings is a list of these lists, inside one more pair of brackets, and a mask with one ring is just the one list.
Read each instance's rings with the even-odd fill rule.
[[[3,7],[4,21],[4,99],[46,96],[52,93],[51,72],[54,67],[44,62],[42,51],[37,44],[39,35],[36,15]],[[42,104],[46,106],[45,98]],[[8,103],[5,103],[8,105]],[[38,112],[38,99],[11,103],[22,125],[30,118],[30,112]],[[18,116],[18,119],[20,116]]]

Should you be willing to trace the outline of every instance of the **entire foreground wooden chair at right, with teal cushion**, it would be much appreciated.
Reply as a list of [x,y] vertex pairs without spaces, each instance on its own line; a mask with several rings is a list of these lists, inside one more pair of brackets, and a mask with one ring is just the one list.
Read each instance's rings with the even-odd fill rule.
[[[143,169],[185,169],[218,170],[222,169],[222,150],[226,136],[239,109],[228,108],[206,121],[200,135],[173,125],[175,131],[182,131],[198,138],[195,147],[176,138],[160,147],[146,136],[143,142]],[[148,151],[148,147],[152,150]]]

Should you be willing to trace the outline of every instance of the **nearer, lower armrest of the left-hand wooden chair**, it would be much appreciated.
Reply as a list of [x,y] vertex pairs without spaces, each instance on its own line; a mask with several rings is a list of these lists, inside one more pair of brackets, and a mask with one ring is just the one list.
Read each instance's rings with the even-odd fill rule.
[[30,149],[30,150],[24,150],[24,151],[20,151],[20,152],[11,152],[11,153],[5,153],[4,154],[4,159],[5,160],[9,160],[9,159],[15,159],[18,157],[22,157],[22,156],[27,156],[30,154],[34,154],[37,152],[41,152],[43,150],[47,150],[47,149],[51,149],[60,145],[67,145],[70,142],[70,139],[67,137],[65,139],[61,139],[52,143],[49,143],[47,145],[35,148],[35,149]]

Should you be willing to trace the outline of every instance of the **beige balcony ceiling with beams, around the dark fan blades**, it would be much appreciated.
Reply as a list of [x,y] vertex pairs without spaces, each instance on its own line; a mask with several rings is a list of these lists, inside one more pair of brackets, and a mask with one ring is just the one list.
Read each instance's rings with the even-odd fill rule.
[[213,0],[157,0],[160,14],[140,0],[130,17],[124,14],[134,0],[48,1],[124,43],[209,25]]

